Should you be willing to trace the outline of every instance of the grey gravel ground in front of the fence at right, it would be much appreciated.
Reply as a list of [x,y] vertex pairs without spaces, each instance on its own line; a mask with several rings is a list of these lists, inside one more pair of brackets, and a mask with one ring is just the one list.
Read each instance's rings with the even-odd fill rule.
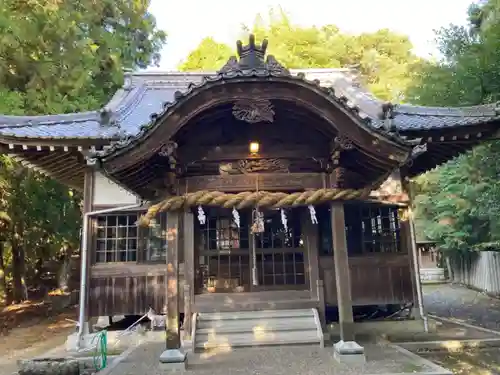
[[424,285],[423,295],[430,314],[500,331],[500,299],[456,284]]

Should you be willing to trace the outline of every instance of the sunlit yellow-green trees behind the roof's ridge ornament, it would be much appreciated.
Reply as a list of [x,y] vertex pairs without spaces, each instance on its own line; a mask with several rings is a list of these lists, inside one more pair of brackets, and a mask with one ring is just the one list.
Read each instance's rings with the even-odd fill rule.
[[[266,19],[257,16],[251,27],[243,27],[242,39],[249,32],[258,42],[267,38],[268,53],[290,69],[355,67],[367,87],[384,100],[402,100],[413,66],[421,63],[404,35],[389,30],[351,35],[334,25],[302,27],[293,24],[283,10],[271,11]],[[236,54],[231,51],[212,38],[204,39],[179,69],[218,70]]]

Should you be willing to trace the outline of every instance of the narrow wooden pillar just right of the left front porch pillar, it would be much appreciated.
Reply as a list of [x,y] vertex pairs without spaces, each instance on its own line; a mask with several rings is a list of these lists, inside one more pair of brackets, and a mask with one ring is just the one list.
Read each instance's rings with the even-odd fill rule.
[[184,338],[191,338],[191,314],[194,301],[194,215],[184,212]]

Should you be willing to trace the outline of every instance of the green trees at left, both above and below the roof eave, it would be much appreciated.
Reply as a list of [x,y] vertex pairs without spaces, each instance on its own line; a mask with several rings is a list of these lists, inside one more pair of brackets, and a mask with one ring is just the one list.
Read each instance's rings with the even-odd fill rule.
[[[0,4],[0,113],[86,111],[103,106],[124,69],[159,61],[166,35],[146,0],[4,0]],[[3,219],[2,219],[3,218]],[[81,197],[0,156],[0,299],[44,261],[65,264],[79,246]]]

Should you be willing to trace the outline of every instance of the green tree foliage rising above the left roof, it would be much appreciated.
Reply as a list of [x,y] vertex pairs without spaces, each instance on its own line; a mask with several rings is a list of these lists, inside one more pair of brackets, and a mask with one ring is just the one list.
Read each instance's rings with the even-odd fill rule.
[[159,60],[165,34],[148,6],[144,0],[3,0],[0,88],[20,93],[25,114],[98,108],[121,83],[123,68]]

